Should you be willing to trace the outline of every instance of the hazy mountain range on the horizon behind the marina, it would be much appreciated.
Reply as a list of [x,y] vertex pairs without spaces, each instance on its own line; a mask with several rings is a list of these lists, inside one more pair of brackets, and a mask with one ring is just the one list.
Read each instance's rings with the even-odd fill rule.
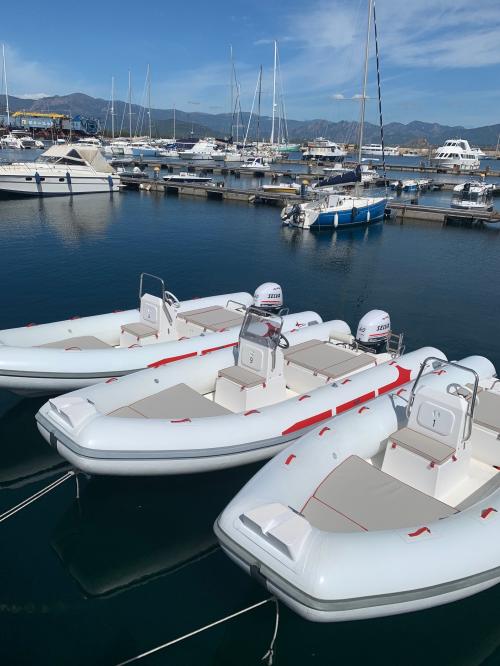
[[[72,116],[84,115],[98,118],[102,124],[106,124],[107,132],[111,128],[110,102],[85,95],[84,93],[72,93],[70,95],[54,95],[41,99],[21,99],[9,96],[11,112],[14,111],[38,111],[50,113],[64,113]],[[125,102],[115,101],[115,130],[118,134],[123,127],[123,134],[128,134],[128,106]],[[249,113],[241,114],[241,126],[239,137],[243,138],[248,124]],[[188,136],[215,136],[217,138],[227,137],[230,133],[231,114],[229,113],[203,113],[186,112],[179,109],[175,112],[177,137]],[[155,136],[172,136],[173,134],[173,109],[151,109],[152,133]],[[142,120],[141,120],[142,119]],[[132,131],[140,130],[141,134],[147,133],[148,112],[143,107],[132,105]],[[142,126],[142,127],[141,127]],[[358,132],[356,121],[341,120],[331,122],[329,120],[288,120],[289,141],[300,142],[324,136],[338,142],[354,143]],[[257,123],[255,117],[249,131],[249,138],[255,139]],[[271,118],[261,116],[259,133],[261,139],[268,139],[271,132]],[[233,132],[236,133],[236,130]],[[439,123],[427,123],[414,120],[410,123],[388,123],[384,126],[384,137],[386,145],[400,146],[439,146],[446,139],[463,138],[468,139],[473,145],[481,147],[496,147],[500,135],[500,124],[487,125],[484,127],[465,128],[462,126],[440,125]],[[364,143],[380,143],[380,132],[377,125],[365,123]]]

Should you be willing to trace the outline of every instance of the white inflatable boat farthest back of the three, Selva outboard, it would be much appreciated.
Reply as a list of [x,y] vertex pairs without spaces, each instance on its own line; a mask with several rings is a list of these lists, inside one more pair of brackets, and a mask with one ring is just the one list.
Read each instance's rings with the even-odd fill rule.
[[[144,278],[156,281],[159,296],[144,293]],[[139,310],[0,331],[0,388],[57,394],[230,347],[237,343],[246,308],[279,307],[282,292],[265,283],[254,297],[238,292],[180,302],[163,280],[143,273],[139,299]],[[302,314],[287,324],[318,321],[316,313]]]

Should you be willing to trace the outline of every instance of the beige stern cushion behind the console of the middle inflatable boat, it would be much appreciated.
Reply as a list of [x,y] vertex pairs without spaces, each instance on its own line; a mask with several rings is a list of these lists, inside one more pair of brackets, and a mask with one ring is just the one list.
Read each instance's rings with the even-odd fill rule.
[[294,345],[284,353],[284,358],[287,364],[293,363],[331,379],[374,364],[369,354],[356,354],[322,340]]

